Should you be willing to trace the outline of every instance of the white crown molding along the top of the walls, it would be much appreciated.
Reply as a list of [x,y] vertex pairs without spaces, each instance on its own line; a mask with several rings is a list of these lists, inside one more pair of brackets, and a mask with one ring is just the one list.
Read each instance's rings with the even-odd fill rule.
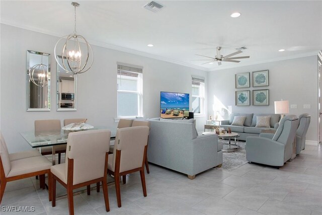
[[[5,24],[5,25],[10,25],[10,26],[13,26],[13,27],[17,27],[17,28],[22,28],[22,29],[29,30],[29,31],[35,31],[35,32],[38,32],[38,33],[47,34],[47,35],[50,35],[50,36],[55,36],[55,37],[58,37],[58,38],[60,38],[62,36],[62,35],[58,35],[55,32],[45,31],[45,30],[43,30],[41,28],[35,28],[35,27],[32,27],[32,26],[21,25],[21,24],[14,23],[14,22],[11,22],[11,21],[8,21],[8,20],[5,20],[5,19],[1,19],[0,23]],[[191,63],[186,63],[186,62],[182,62],[182,61],[179,61],[179,60],[170,59],[170,58],[167,58],[167,57],[162,57],[162,56],[158,56],[158,55],[154,55],[154,54],[149,54],[149,53],[146,53],[146,52],[142,52],[142,51],[138,51],[138,50],[134,50],[134,49],[130,49],[130,48],[125,48],[125,47],[121,47],[121,46],[116,46],[116,45],[112,45],[112,44],[108,44],[108,43],[103,43],[103,42],[99,42],[99,41],[95,41],[95,40],[88,40],[88,42],[90,44],[92,44],[92,45],[100,46],[100,47],[103,47],[103,48],[108,48],[108,49],[112,49],[112,50],[116,50],[116,51],[135,54],[135,55],[148,57],[148,58],[152,58],[152,59],[162,60],[162,61],[175,63],[175,64],[195,68],[195,69],[202,70],[202,71],[208,71],[208,72],[210,72],[210,71],[218,71],[218,70],[228,69],[228,68],[236,68],[236,67],[248,66],[248,65],[262,64],[262,63],[268,63],[268,62],[275,62],[275,61],[281,61],[281,60],[288,60],[288,59],[294,59],[294,58],[299,58],[299,57],[307,57],[307,56],[313,56],[313,55],[319,55],[322,58],[322,52],[320,50],[316,50],[316,51],[312,51],[312,52],[295,54],[295,55],[290,55],[290,56],[286,56],[286,57],[272,58],[272,59],[262,60],[262,61],[255,61],[255,62],[249,62],[249,63],[237,63],[237,64],[234,64],[234,65],[226,65],[226,66],[220,65],[220,66],[218,66],[216,68],[205,68],[205,67],[194,65],[194,64],[191,64]]]

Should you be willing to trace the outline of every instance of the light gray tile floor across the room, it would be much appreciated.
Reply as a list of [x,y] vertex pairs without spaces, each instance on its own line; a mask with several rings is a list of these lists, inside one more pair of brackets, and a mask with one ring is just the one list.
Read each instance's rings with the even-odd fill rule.
[[[284,167],[273,169],[245,164],[233,171],[211,169],[189,180],[187,176],[149,165],[147,197],[139,174],[121,184],[122,207],[116,203],[115,186],[108,187],[110,212],[105,211],[103,192],[74,195],[75,214],[322,214],[322,146],[305,151]],[[112,179],[109,179],[112,181]],[[65,189],[57,184],[57,195]],[[47,190],[34,178],[9,182],[1,205],[34,206],[35,211],[15,214],[68,214],[66,198],[48,202]]]

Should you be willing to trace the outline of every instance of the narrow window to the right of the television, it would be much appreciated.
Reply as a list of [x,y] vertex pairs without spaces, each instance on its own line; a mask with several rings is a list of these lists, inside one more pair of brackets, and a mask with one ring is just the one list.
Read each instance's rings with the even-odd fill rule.
[[192,77],[192,112],[204,114],[205,80]]

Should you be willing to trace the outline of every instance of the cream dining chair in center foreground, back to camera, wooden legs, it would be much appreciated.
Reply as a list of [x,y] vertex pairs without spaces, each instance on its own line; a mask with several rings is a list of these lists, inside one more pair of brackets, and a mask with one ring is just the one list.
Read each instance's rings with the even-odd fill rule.
[[56,181],[67,189],[69,214],[74,214],[73,189],[102,182],[106,211],[110,210],[107,193],[107,166],[111,131],[86,130],[68,134],[65,163],[51,167],[52,206],[56,206]]

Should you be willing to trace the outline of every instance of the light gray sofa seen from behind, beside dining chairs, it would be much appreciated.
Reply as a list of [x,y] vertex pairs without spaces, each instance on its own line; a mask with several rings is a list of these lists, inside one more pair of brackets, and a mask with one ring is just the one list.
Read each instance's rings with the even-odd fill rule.
[[195,175],[222,164],[222,144],[216,134],[200,135],[190,120],[149,120],[147,160],[184,174]]

